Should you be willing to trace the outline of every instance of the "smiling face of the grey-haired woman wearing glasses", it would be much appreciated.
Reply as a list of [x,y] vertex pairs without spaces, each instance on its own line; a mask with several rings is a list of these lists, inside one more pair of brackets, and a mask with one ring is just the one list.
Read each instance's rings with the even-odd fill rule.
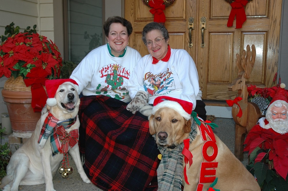
[[157,60],[161,60],[162,58],[166,56],[167,51],[168,51],[169,39],[167,41],[163,39],[164,37],[160,30],[157,30],[157,29],[151,30],[150,32],[146,34],[145,38],[146,38],[146,42],[155,41],[156,39],[162,39],[162,41],[158,44],[156,44],[155,42],[152,42],[152,46],[147,46],[147,49],[148,49],[149,54],[151,54],[151,56],[155,57]]

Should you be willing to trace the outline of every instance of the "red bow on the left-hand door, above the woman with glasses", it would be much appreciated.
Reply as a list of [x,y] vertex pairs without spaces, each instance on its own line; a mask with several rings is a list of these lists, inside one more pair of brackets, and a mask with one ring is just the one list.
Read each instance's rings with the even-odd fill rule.
[[150,9],[150,13],[154,15],[154,22],[162,22],[165,23],[166,17],[164,14],[165,5],[163,5],[163,0],[151,0],[149,1],[148,5],[152,7]]

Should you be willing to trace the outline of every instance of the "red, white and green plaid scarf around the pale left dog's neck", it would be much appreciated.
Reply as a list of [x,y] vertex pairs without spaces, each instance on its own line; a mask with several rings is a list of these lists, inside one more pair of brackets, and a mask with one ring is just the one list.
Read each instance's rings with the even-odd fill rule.
[[56,133],[56,129],[60,126],[62,126],[64,129],[69,129],[76,122],[76,120],[77,116],[75,116],[75,118],[67,119],[65,121],[59,121],[50,113],[50,111],[48,111],[48,116],[43,123],[41,133],[38,139],[39,146],[43,148],[50,135],[52,156],[56,155],[58,152],[61,152],[61,143]]

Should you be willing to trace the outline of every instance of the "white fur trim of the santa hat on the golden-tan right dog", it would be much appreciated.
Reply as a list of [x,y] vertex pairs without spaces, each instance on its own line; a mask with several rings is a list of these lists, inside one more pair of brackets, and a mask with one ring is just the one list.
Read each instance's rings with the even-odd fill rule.
[[162,107],[168,107],[168,108],[174,109],[181,116],[183,116],[186,120],[191,119],[191,114],[187,113],[178,102],[174,102],[174,101],[170,101],[170,100],[160,102],[159,104],[154,106],[152,109],[152,114],[154,115],[155,112]]

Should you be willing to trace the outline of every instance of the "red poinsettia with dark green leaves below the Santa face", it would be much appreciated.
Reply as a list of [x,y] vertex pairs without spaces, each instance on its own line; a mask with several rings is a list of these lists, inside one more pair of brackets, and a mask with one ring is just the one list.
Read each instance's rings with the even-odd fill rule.
[[249,153],[247,169],[255,176],[261,189],[288,190],[288,133],[280,134],[256,126],[245,139],[244,151]]

